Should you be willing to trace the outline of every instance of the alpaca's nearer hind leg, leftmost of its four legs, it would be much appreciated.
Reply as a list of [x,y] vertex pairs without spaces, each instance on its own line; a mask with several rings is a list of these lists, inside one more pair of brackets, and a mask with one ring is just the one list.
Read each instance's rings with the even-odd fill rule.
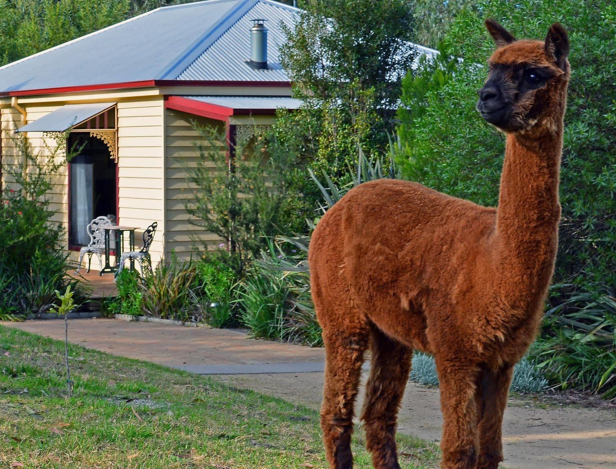
[[349,331],[340,327],[333,334],[323,332],[325,343],[325,385],[321,406],[323,443],[330,469],[351,469],[353,404],[359,387],[363,353],[368,347],[367,327]]

